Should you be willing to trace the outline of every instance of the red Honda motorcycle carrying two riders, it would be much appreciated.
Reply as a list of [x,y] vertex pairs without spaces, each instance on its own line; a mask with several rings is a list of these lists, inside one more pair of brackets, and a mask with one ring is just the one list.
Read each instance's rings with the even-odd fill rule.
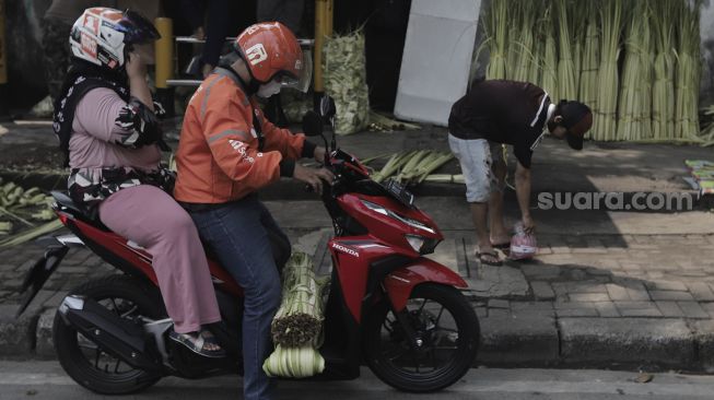
[[[323,116],[333,115],[331,99]],[[353,156],[321,134],[312,114],[304,130],[323,137],[326,166],[336,180],[321,195],[335,227],[328,246],[331,282],[325,307],[325,370],[308,379],[354,379],[366,363],[393,387],[412,392],[443,389],[471,367],[479,322],[457,287],[466,282],[424,257],[443,235],[396,181],[381,185]],[[211,258],[209,267],[223,321],[210,327],[225,358],[196,355],[167,340],[172,320],[163,306],[151,256],[108,231],[72,200],[51,193],[55,212],[72,235],[40,240],[47,250],[27,273],[24,311],[72,247],[94,251],[121,273],[89,281],[62,301],[55,316],[57,357],[79,385],[104,395],[145,389],[164,376],[203,378],[242,372],[242,289]]]

